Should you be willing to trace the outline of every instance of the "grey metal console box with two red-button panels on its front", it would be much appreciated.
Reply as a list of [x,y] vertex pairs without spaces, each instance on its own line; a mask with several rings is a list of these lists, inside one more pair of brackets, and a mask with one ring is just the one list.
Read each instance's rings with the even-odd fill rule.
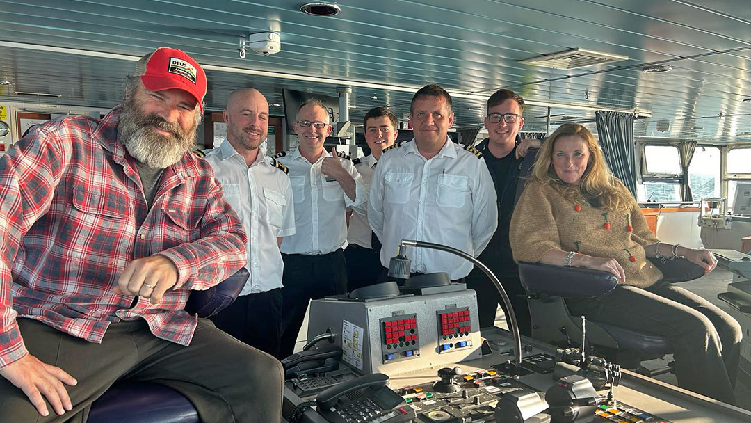
[[477,295],[463,284],[442,288],[422,295],[312,300],[307,338],[332,331],[341,361],[362,374],[406,373],[481,358]]

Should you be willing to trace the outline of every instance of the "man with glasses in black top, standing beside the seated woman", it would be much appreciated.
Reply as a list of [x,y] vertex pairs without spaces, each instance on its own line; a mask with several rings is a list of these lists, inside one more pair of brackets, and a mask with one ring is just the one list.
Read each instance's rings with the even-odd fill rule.
[[[524,99],[510,89],[499,89],[487,99],[485,128],[488,137],[477,145],[493,177],[498,198],[498,228],[487,248],[479,259],[493,270],[511,299],[511,307],[517,316],[522,334],[531,334],[529,306],[526,294],[519,281],[519,271],[511,255],[508,242],[508,228],[517,192],[517,180],[524,168],[534,162],[534,155],[527,155],[530,149],[540,147],[540,140],[522,140],[519,131],[524,125],[521,116]],[[525,156],[526,159],[525,163]],[[498,304],[503,304],[493,283],[481,270],[475,268],[466,278],[467,288],[477,292],[480,327],[492,326],[496,319]]]

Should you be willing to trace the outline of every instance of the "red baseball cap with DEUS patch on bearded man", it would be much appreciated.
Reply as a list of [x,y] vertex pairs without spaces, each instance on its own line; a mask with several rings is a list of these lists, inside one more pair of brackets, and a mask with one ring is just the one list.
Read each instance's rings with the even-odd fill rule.
[[135,76],[151,91],[182,89],[195,97],[204,113],[206,74],[201,65],[182,50],[159,47],[136,64]]

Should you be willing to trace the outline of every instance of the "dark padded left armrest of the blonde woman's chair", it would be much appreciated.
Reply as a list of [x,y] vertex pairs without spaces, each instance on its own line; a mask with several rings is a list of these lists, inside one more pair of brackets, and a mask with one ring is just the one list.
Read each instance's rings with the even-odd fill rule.
[[529,294],[556,297],[596,297],[611,292],[618,284],[615,275],[605,270],[519,263],[519,279]]

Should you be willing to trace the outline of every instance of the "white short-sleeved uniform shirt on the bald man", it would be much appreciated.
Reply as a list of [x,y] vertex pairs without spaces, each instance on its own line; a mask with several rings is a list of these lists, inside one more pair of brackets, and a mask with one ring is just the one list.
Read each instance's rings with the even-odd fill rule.
[[274,159],[258,150],[258,157],[249,167],[226,139],[219,148],[209,150],[204,159],[214,169],[225,199],[240,216],[248,234],[246,269],[250,277],[240,295],[281,288],[284,261],[276,237],[295,232],[292,186],[282,166],[277,167]]

